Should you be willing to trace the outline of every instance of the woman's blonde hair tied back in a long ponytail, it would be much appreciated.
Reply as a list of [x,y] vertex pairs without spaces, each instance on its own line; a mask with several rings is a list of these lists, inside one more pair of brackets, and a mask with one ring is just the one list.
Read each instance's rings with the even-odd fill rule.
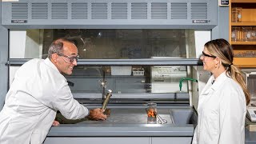
[[246,105],[250,103],[250,93],[247,89],[246,82],[242,77],[242,71],[233,65],[233,48],[229,42],[225,39],[214,39],[210,42],[206,42],[205,48],[210,54],[221,59],[222,66],[226,69],[226,75],[242,87],[242,90],[246,96]]

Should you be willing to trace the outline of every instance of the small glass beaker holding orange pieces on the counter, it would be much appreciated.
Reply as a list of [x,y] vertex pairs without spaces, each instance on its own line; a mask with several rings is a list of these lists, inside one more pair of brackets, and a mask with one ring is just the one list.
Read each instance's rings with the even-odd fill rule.
[[146,114],[148,124],[157,123],[157,104],[154,102],[147,103]]

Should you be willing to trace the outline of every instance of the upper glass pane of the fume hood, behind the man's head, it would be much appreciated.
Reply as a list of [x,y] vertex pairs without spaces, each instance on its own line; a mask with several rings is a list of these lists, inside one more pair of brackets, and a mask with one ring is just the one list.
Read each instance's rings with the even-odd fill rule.
[[74,40],[82,59],[198,58],[198,38],[210,38],[210,33],[198,36],[195,30],[10,30],[10,58],[46,58],[50,43],[64,37]]

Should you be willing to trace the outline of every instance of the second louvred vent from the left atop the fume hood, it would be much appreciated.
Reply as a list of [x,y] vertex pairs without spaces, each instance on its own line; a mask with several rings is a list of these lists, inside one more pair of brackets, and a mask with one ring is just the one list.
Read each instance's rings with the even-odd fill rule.
[[48,19],[48,3],[31,4],[32,19]]

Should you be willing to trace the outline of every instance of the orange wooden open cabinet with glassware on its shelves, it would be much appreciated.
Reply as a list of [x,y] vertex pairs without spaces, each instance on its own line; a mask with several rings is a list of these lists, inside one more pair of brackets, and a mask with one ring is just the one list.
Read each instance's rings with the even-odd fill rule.
[[230,42],[234,64],[256,67],[256,0],[232,0],[230,5]]

